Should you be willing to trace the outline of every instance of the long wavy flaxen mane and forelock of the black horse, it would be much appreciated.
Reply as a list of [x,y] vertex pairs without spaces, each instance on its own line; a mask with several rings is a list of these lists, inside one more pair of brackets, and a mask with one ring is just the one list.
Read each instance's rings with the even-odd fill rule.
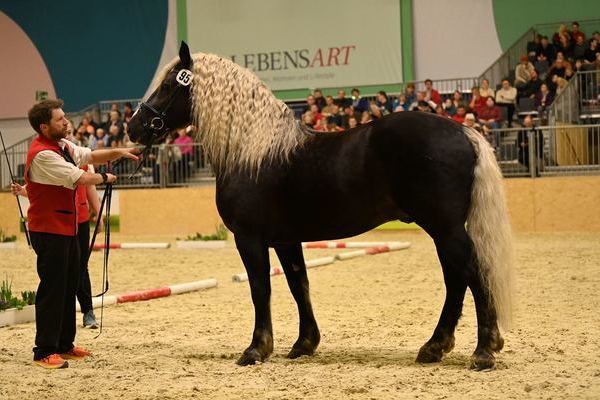
[[263,163],[285,161],[304,143],[307,136],[293,112],[252,72],[213,54],[192,59],[193,123],[215,173],[244,169],[256,176]]

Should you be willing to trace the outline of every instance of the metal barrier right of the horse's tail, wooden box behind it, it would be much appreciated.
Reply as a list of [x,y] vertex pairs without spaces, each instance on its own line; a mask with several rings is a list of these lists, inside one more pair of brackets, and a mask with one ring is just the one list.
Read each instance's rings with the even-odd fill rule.
[[600,173],[600,125],[556,125],[492,131],[506,177]]

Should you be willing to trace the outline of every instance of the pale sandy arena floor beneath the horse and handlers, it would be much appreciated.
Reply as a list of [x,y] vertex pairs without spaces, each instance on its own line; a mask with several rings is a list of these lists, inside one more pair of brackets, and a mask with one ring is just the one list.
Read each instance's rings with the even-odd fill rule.
[[[456,347],[440,364],[414,359],[444,298],[431,239],[419,232],[373,232],[363,240],[406,240],[409,250],[310,270],[322,340],[317,354],[288,360],[298,319],[285,278],[273,277],[275,352],[238,367],[253,311],[233,246],[224,250],[115,250],[111,293],[214,277],[217,289],[105,309],[104,332],[79,329],[95,353],[65,370],[31,363],[34,324],[0,328],[1,399],[443,399],[600,397],[600,234],[519,234],[516,327],[504,334],[497,368],[468,369],[476,321],[467,295]],[[123,237],[113,241],[173,241]],[[311,250],[306,258],[337,250]],[[37,284],[32,251],[2,251],[0,276],[13,289]],[[91,261],[99,289],[100,254]],[[99,310],[98,312],[99,313]],[[78,315],[80,324],[81,315]]]

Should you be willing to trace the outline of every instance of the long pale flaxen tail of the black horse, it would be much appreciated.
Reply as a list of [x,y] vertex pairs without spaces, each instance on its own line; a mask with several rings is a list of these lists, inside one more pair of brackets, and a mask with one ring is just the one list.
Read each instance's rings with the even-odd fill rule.
[[477,154],[467,230],[498,322],[504,329],[509,329],[514,255],[502,173],[491,146],[481,134],[470,128],[464,128],[464,131]]

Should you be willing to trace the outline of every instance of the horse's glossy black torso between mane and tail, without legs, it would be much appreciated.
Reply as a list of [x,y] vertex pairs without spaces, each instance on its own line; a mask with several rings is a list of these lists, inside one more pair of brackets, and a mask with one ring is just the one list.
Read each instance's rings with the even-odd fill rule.
[[[473,150],[459,125],[422,113],[394,114],[339,134],[316,134],[257,178],[218,183],[226,223],[269,238],[322,240],[359,234],[433,206],[468,202]],[[468,182],[467,182],[468,181]]]

